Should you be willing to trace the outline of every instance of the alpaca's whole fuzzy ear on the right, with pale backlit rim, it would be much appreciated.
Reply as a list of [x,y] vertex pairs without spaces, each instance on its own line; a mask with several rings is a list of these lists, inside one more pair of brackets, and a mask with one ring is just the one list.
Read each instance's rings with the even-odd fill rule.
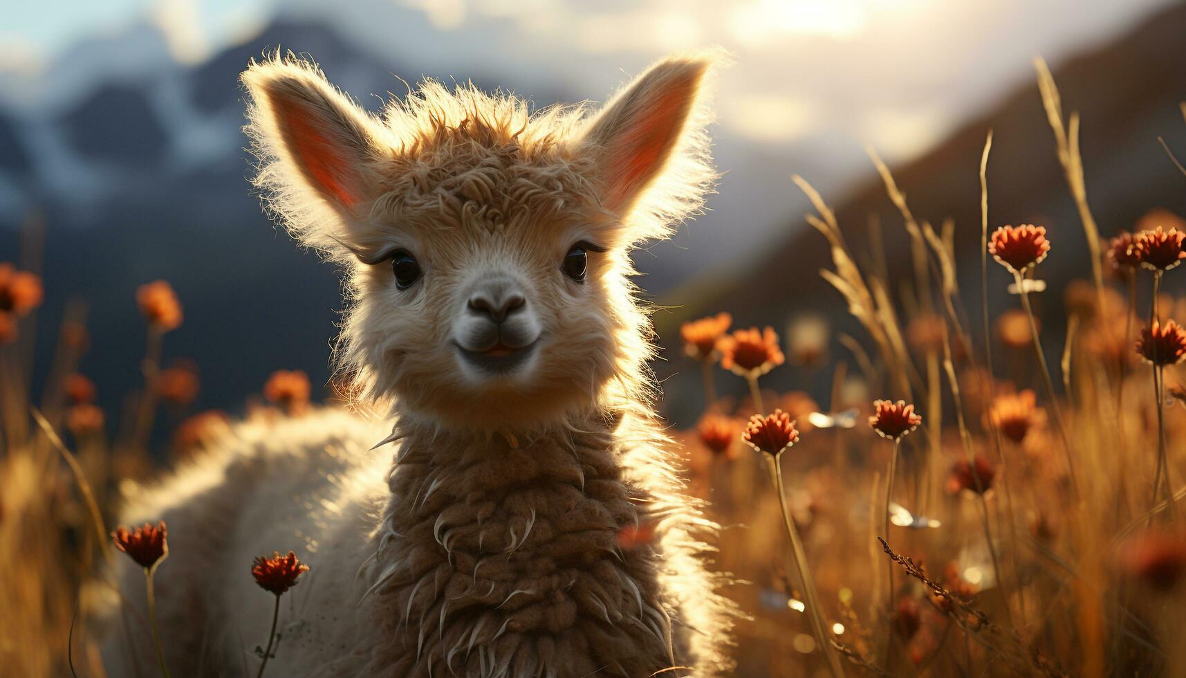
[[[700,106],[712,62],[703,56],[664,59],[592,120],[582,140],[594,154],[601,201],[610,211],[625,217],[643,209],[672,221],[700,207],[714,178],[703,132],[708,116]],[[668,175],[671,182],[661,180]]]

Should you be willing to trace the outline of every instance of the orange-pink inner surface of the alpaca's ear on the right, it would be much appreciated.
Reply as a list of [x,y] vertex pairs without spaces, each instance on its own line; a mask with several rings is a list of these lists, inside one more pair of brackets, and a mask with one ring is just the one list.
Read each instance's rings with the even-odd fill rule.
[[646,102],[638,120],[614,141],[613,173],[608,178],[610,204],[614,208],[629,202],[663,166],[688,116],[694,84],[687,80]]

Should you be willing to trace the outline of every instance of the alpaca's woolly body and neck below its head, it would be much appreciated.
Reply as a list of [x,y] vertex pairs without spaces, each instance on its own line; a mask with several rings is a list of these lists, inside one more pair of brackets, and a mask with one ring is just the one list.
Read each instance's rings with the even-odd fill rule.
[[[728,603],[661,438],[620,413],[581,424],[517,448],[413,426],[394,467],[389,449],[368,452],[383,427],[343,411],[241,424],[125,515],[170,525],[157,604],[174,674],[257,665],[273,600],[247,564],[272,544],[312,569],[281,600],[269,672],[718,674]],[[652,521],[653,539],[619,537]],[[145,619],[141,572],[121,566],[130,619]],[[133,674],[117,645],[108,659]]]

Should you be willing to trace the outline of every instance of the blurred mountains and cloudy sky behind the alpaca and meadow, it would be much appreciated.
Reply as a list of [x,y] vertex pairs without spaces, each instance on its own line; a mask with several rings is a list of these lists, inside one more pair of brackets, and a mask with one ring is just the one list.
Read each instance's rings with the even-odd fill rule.
[[908,259],[905,232],[866,146],[893,167],[919,218],[955,220],[969,264],[961,277],[978,289],[977,166],[994,128],[993,226],[1047,226],[1066,254],[1042,267],[1058,305],[1069,277],[1059,262],[1082,262],[1086,249],[1034,84],[1038,55],[1064,107],[1083,115],[1102,234],[1154,205],[1186,211],[1156,139],[1186,157],[1186,6],[1166,0],[59,0],[4,14],[0,261],[45,281],[31,380],[36,393],[59,318],[81,302],[91,336],[81,370],[109,411],[142,379],[135,290],[161,278],[185,312],[165,362],[197,365],[196,410],[241,412],[279,368],[306,370],[314,388],[330,379],[338,273],[268,222],[247,180],[237,75],[274,47],[307,53],[372,110],[425,76],[500,87],[536,107],[604,100],[669,51],[732,51],[716,91],[723,175],[710,211],[637,253],[671,347],[656,366],[663,410],[680,424],[703,403],[696,366],[677,360],[677,329],[710,311],[790,341],[799,335],[788,323],[821,313],[820,355],[766,382],[824,400],[830,374],[820,366],[842,350],[834,336],[852,321],[817,274],[825,243],[803,222],[808,203],[790,176],[837,208],[857,252],[878,235],[895,270]]

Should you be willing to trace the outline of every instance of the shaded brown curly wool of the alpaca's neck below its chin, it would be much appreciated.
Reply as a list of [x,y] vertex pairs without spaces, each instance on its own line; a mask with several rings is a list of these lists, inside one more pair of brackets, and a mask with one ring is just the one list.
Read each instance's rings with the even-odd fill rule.
[[397,665],[459,676],[498,674],[491,661],[509,674],[531,669],[519,661],[575,676],[671,665],[655,552],[618,543],[651,501],[621,463],[623,429],[614,414],[517,439],[408,431],[376,583],[397,613]]

